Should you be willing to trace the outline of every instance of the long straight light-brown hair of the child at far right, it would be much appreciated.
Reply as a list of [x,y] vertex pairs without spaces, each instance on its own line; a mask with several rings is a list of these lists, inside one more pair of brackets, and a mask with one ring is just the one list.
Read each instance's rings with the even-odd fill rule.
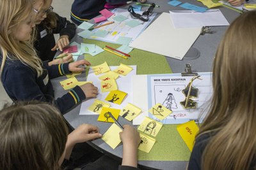
[[250,169],[256,157],[255,45],[256,11],[250,11],[232,22],[216,52],[214,94],[197,136],[210,136],[204,170]]

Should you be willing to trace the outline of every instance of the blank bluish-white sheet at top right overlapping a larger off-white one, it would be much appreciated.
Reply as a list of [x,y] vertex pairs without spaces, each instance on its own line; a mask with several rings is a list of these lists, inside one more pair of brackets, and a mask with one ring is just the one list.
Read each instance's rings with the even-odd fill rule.
[[170,11],[175,28],[222,26],[229,25],[220,10],[208,10],[204,13],[186,11]]

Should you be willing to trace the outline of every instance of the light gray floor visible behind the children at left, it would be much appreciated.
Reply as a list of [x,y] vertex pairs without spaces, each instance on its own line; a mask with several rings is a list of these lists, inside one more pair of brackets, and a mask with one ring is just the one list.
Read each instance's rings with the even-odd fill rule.
[[[70,20],[70,9],[71,4],[74,0],[53,0],[52,7],[54,11],[58,13],[61,17],[66,17]],[[58,35],[56,36],[58,38]],[[12,100],[6,94],[2,83],[0,83],[0,108],[2,108],[4,103],[11,103]]]

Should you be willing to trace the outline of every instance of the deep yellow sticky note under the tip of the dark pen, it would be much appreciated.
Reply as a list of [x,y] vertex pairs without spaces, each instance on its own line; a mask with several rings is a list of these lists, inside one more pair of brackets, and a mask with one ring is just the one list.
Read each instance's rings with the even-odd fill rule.
[[120,110],[113,109],[113,108],[102,107],[102,110],[101,110],[100,115],[98,117],[98,121],[114,123],[115,120],[113,120],[113,118],[110,117],[109,113],[111,113],[111,115],[113,115],[113,117],[117,120],[118,116],[119,116],[119,113],[120,113]]

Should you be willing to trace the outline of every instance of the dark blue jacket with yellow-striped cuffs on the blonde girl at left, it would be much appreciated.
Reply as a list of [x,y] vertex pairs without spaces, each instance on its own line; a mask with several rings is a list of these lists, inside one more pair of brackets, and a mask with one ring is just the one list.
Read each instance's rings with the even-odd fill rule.
[[[0,53],[0,63],[2,62]],[[50,79],[70,73],[68,63],[48,66],[43,64],[44,73],[37,76],[35,69],[20,60],[6,60],[1,81],[8,96],[13,101],[39,100],[54,103],[61,113],[67,113],[73,106],[86,97],[83,90],[76,86],[67,94],[54,100],[54,90]]]

